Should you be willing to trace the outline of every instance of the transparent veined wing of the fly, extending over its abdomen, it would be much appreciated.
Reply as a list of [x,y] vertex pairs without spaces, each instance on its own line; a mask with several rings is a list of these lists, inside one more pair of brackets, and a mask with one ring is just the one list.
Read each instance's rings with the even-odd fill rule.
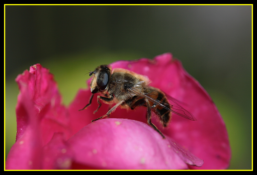
[[[162,102],[160,100],[157,100],[155,98],[152,98],[150,97],[151,96],[156,96],[156,95],[153,95],[153,94],[147,94],[147,93],[141,93],[141,92],[138,92],[136,91],[135,89],[131,89],[131,91],[137,95],[140,95],[144,98],[147,98],[148,100],[150,100],[151,102],[154,102],[158,105],[160,105],[161,107],[177,114],[178,116],[181,116],[181,117],[184,117],[188,120],[193,120],[193,121],[196,121],[197,119],[193,116],[193,114],[191,114],[189,111],[187,111],[186,109],[184,109],[182,106],[180,106],[178,103],[179,101],[176,100],[175,98],[169,96],[169,95],[165,95],[166,98],[169,100],[169,104],[165,103],[165,102]],[[170,106],[170,109],[167,107],[167,106]]]

